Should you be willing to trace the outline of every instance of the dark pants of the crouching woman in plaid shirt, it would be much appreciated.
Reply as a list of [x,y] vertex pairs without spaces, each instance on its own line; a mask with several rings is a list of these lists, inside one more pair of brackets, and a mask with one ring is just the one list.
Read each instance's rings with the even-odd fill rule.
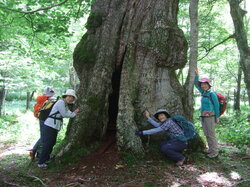
[[181,161],[184,159],[182,151],[186,147],[187,143],[180,140],[169,140],[160,144],[161,152],[174,161]]

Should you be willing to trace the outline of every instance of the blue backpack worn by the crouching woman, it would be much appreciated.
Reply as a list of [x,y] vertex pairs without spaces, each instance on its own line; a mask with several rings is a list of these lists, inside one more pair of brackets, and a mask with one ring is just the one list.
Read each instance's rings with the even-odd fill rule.
[[196,136],[196,130],[194,128],[193,123],[190,121],[187,121],[185,117],[181,115],[173,115],[171,116],[171,119],[181,127],[181,129],[184,131],[184,136],[178,136],[177,138],[181,141],[188,141],[190,139],[193,139]]

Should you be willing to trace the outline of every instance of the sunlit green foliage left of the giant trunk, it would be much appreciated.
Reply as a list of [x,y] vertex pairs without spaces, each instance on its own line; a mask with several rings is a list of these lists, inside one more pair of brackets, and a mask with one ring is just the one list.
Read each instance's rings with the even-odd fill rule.
[[84,21],[90,6],[90,1],[75,3],[0,2],[1,81],[9,93],[32,93],[51,85],[60,94],[70,87],[72,52],[80,37],[77,30],[83,30],[76,24]]

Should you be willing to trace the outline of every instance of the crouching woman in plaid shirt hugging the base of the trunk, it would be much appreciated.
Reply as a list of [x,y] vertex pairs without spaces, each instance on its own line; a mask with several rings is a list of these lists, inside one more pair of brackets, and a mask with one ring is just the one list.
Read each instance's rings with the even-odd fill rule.
[[154,117],[160,121],[159,123],[150,118],[148,111],[145,112],[145,116],[148,119],[147,121],[156,128],[144,131],[136,131],[135,134],[149,135],[165,131],[166,135],[169,137],[169,140],[162,142],[160,144],[160,149],[168,158],[176,161],[177,166],[182,166],[185,161],[182,151],[187,147],[186,141],[181,141],[177,138],[184,136],[184,131],[182,128],[170,118],[171,116],[165,109],[159,109],[154,114]]

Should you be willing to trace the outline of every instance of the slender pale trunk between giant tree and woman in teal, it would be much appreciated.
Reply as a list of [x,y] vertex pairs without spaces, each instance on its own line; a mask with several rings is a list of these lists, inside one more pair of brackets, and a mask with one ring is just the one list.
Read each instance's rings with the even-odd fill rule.
[[186,116],[193,120],[194,112],[194,78],[195,69],[197,68],[198,59],[198,4],[199,0],[190,0],[189,17],[190,17],[190,53],[189,53],[189,71],[185,83],[186,105],[184,105]]

